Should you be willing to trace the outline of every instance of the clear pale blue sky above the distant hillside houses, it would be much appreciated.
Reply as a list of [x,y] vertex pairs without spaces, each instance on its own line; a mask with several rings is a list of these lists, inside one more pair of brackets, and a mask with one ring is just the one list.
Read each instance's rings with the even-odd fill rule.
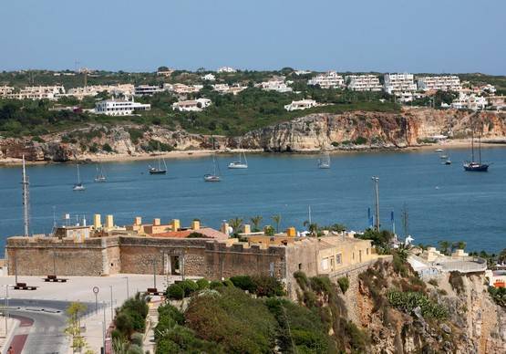
[[0,70],[506,75],[504,0],[5,0]]

